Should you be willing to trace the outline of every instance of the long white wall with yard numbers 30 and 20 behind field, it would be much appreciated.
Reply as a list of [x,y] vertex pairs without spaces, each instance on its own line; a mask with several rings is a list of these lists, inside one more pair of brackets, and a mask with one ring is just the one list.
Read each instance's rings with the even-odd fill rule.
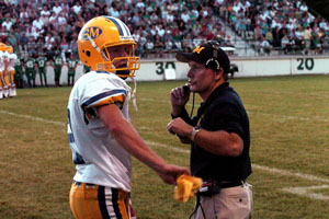
[[[327,74],[329,73],[329,57],[325,56],[282,56],[235,58],[231,62],[238,66],[235,78],[268,77],[293,74]],[[174,59],[141,60],[140,69],[136,71],[137,81],[185,80],[189,66]],[[77,68],[76,80],[83,74],[83,67]],[[54,69],[47,67],[48,84],[54,84]],[[67,84],[67,67],[63,67],[60,83]],[[36,84],[39,78],[36,76]]]

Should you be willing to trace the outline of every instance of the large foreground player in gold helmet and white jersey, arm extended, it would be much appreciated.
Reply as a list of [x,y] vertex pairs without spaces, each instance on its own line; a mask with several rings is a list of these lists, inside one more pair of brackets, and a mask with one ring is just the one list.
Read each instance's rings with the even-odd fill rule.
[[[81,28],[79,58],[91,68],[75,83],[68,101],[68,139],[76,164],[70,208],[76,218],[132,218],[132,154],[163,182],[175,184],[185,168],[167,164],[129,122],[131,88],[140,58],[126,24],[98,16]],[[88,194],[88,195],[86,195]]]

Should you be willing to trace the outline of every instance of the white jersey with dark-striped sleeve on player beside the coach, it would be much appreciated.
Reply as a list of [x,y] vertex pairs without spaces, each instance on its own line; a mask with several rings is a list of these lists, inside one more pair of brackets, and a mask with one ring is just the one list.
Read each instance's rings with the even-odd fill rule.
[[68,102],[68,138],[77,165],[75,181],[131,192],[132,157],[97,113],[97,107],[115,102],[129,120],[129,93],[124,80],[105,71],[91,71],[75,83]]

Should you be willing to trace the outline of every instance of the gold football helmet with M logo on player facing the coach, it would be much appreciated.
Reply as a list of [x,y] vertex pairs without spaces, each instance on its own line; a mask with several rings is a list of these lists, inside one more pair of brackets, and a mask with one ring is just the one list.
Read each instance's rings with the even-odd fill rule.
[[[127,57],[111,58],[109,48],[127,46]],[[121,20],[113,16],[98,16],[87,22],[78,36],[79,57],[91,70],[115,72],[118,77],[134,77],[140,67],[135,56],[135,41]],[[115,67],[114,61],[124,59],[125,65]]]

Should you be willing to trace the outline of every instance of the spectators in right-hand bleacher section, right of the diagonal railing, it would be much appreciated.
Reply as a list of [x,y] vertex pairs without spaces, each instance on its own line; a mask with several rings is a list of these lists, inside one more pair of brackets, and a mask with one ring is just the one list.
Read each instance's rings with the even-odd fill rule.
[[216,13],[260,54],[328,54],[329,23],[299,0],[217,0]]

